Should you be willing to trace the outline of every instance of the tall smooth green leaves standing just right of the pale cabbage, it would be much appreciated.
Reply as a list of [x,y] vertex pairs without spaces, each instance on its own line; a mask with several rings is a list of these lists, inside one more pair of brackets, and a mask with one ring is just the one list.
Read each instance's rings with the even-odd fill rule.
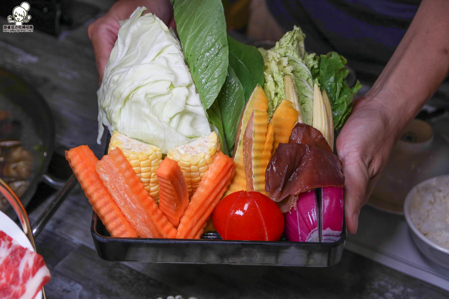
[[220,0],[172,0],[178,34],[208,120],[228,153],[245,102],[263,85],[263,58],[256,47],[226,34]]

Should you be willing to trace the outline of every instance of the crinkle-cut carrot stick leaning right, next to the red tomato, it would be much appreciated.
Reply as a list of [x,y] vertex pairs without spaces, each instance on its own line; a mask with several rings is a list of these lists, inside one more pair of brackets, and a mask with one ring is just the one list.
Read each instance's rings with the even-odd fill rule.
[[199,239],[208,218],[219,203],[235,171],[232,158],[219,152],[190,199],[176,238]]

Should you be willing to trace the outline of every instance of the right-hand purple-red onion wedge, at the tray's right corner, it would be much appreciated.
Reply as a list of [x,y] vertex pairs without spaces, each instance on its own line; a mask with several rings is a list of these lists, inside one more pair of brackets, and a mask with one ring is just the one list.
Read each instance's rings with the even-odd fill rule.
[[335,242],[343,229],[343,187],[321,188],[321,242]]

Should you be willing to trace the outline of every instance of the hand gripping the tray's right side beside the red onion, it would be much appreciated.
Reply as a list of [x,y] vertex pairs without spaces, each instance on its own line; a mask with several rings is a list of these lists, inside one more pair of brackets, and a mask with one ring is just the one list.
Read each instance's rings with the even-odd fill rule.
[[379,102],[369,97],[358,99],[336,142],[345,175],[346,227],[352,234],[357,232],[360,209],[367,203],[400,132]]

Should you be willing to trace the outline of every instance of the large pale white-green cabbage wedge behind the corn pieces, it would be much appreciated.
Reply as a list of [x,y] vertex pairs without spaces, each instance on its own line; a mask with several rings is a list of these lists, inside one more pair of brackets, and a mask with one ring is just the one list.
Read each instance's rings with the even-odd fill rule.
[[211,132],[176,35],[138,7],[121,23],[98,95],[100,142],[110,132],[166,153]]

